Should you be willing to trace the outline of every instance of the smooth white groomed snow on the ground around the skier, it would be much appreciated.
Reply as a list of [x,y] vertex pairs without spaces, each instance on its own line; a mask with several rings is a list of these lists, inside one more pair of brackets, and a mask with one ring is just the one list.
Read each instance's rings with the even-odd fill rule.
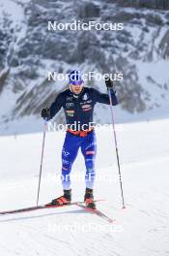
[[[62,193],[64,132],[46,134],[40,204]],[[42,209],[0,216],[0,255],[169,254],[169,119],[123,124],[118,133],[127,208],[122,209],[113,136],[97,130],[95,197],[98,208],[116,219],[108,224],[78,207]],[[0,137],[0,210],[36,204],[42,133]],[[73,200],[84,195],[84,163],[73,165]]]

